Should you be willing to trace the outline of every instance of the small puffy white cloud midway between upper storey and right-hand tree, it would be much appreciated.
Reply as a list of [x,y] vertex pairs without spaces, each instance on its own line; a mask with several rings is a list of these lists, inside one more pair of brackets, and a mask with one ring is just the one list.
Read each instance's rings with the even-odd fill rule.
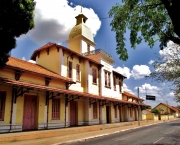
[[142,79],[151,73],[147,65],[135,65],[131,71],[132,76],[135,80]]

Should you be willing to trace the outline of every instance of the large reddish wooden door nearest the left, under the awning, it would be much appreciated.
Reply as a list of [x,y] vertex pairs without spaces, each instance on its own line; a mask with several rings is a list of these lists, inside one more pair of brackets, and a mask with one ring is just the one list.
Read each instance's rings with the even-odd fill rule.
[[35,129],[37,97],[24,96],[23,130]]

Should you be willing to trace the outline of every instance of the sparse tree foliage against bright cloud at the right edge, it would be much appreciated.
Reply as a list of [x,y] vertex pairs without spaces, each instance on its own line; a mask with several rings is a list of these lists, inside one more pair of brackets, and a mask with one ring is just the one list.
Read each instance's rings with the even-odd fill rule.
[[149,78],[157,82],[171,82],[175,99],[180,102],[180,46],[172,43],[163,52],[160,52],[158,60],[153,63],[155,71]]

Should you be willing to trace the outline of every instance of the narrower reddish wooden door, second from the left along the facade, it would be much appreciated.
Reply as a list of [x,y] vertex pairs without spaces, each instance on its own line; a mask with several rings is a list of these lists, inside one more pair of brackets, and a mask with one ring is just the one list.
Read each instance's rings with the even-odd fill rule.
[[70,102],[70,126],[76,125],[76,102]]

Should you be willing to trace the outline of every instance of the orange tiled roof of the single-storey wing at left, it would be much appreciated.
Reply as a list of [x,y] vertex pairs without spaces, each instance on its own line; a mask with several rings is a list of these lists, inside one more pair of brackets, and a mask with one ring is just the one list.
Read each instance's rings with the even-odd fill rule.
[[72,79],[60,76],[59,74],[56,74],[50,70],[47,70],[46,68],[40,65],[30,63],[30,62],[27,62],[18,58],[14,58],[14,57],[9,57],[9,61],[6,63],[6,67],[21,69],[23,71],[29,71],[29,72],[36,73],[39,75],[44,75],[49,78],[61,79],[62,81],[73,82]]

